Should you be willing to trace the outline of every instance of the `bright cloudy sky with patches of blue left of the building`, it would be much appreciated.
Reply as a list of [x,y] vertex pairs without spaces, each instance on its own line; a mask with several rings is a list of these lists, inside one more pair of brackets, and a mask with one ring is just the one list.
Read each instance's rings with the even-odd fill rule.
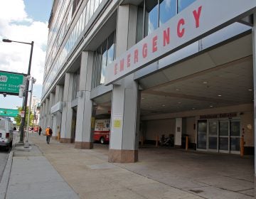
[[[8,0],[0,6],[0,70],[28,72],[31,45],[4,43],[2,39],[33,45],[31,76],[36,78],[33,95],[41,98],[43,69],[48,40],[48,20],[53,0]],[[29,100],[28,100],[29,101]],[[0,95],[0,108],[16,109],[22,106],[18,96]]]

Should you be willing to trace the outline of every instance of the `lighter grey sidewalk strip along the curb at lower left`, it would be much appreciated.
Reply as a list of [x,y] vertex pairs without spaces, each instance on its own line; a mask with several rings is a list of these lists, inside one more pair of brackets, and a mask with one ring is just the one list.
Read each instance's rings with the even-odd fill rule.
[[14,144],[3,177],[1,198],[79,198],[34,144]]

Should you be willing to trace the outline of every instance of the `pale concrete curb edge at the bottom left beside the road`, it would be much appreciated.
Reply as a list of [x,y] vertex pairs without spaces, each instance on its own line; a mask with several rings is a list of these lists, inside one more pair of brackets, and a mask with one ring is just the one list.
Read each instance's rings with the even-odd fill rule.
[[11,151],[4,167],[4,173],[0,182],[0,198],[6,198],[7,188],[9,184],[9,178],[11,174],[11,165],[13,161],[14,151]]

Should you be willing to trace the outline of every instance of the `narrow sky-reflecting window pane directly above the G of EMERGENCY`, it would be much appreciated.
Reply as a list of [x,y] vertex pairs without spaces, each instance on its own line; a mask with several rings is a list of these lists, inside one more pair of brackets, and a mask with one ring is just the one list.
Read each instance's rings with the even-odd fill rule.
[[148,36],[158,26],[158,0],[146,1],[144,36]]

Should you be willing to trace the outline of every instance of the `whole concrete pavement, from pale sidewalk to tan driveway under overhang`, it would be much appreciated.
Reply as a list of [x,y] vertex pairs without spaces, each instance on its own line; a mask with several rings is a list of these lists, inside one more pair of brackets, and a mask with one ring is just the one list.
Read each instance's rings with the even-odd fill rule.
[[107,145],[74,149],[38,134],[29,141],[11,152],[6,198],[254,198],[251,157],[139,149],[137,163],[108,163]]

